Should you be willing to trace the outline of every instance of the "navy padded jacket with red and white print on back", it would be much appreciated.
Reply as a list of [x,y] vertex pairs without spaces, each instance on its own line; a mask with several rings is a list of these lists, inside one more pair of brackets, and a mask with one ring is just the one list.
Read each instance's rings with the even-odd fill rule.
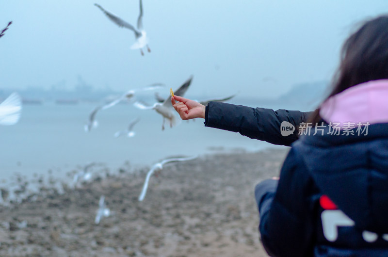
[[[274,116],[268,109],[218,103],[208,109],[207,125],[270,143],[281,143],[281,135],[275,140],[269,135],[279,131],[282,120],[298,125],[295,115],[283,116],[295,112],[276,111]],[[279,122],[260,118],[279,116]],[[230,120],[237,123],[231,125]],[[266,127],[267,122],[279,127]],[[256,128],[258,136],[253,135]],[[329,129],[324,123],[323,135],[313,136],[312,130],[294,140],[280,180],[268,179],[256,187],[261,241],[270,256],[388,256],[388,124],[370,125],[361,136],[334,136]]]

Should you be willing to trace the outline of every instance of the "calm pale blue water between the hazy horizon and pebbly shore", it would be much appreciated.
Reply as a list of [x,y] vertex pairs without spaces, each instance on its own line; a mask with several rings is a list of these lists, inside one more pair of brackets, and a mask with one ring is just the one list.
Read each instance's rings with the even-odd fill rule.
[[[129,104],[97,113],[99,126],[86,133],[83,126],[94,107],[86,103],[24,105],[16,125],[0,127],[0,178],[46,174],[49,170],[56,177],[65,177],[67,172],[92,161],[103,162],[114,172],[125,163],[141,167],[174,155],[203,155],[235,148],[256,151],[271,146],[239,133],[205,128],[203,119],[182,121],[173,128],[167,125],[162,131],[160,114]],[[134,127],[135,137],[113,137],[136,117],[141,120]]]

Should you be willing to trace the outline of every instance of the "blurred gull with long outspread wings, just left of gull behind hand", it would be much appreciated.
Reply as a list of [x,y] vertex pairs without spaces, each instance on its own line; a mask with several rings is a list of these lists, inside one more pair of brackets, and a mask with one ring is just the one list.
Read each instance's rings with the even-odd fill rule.
[[89,132],[92,128],[97,128],[98,122],[96,120],[96,114],[97,114],[98,111],[109,109],[109,108],[115,106],[116,104],[118,104],[119,102],[121,102],[123,100],[128,100],[128,101],[131,100],[135,96],[135,92],[137,92],[137,91],[154,90],[154,89],[157,89],[157,88],[160,88],[160,87],[163,87],[163,86],[164,86],[163,83],[153,83],[153,84],[150,84],[150,85],[148,85],[146,87],[143,87],[143,88],[128,90],[123,95],[117,97],[116,99],[110,101],[109,103],[97,106],[89,114],[88,124],[86,124],[84,126],[85,132]]

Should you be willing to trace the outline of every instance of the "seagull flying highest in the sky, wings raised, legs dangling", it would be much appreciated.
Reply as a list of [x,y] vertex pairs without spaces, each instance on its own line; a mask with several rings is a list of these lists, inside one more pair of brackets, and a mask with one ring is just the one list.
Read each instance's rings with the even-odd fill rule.
[[140,0],[140,13],[139,17],[137,18],[137,29],[135,29],[132,25],[130,25],[125,20],[119,18],[118,16],[113,15],[112,13],[109,13],[104,8],[101,7],[101,5],[95,3],[96,5],[110,20],[112,20],[114,23],[116,23],[121,28],[127,28],[135,33],[136,42],[130,47],[131,49],[140,49],[140,53],[144,55],[143,48],[147,47],[148,52],[151,52],[151,49],[148,47],[148,38],[147,33],[143,29],[143,3],[142,0]]

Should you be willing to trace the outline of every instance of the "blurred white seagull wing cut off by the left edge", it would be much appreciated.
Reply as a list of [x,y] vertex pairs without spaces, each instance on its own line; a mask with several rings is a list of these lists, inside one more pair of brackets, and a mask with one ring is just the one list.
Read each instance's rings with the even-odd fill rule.
[[0,103],[0,125],[14,125],[20,119],[21,97],[16,92]]

